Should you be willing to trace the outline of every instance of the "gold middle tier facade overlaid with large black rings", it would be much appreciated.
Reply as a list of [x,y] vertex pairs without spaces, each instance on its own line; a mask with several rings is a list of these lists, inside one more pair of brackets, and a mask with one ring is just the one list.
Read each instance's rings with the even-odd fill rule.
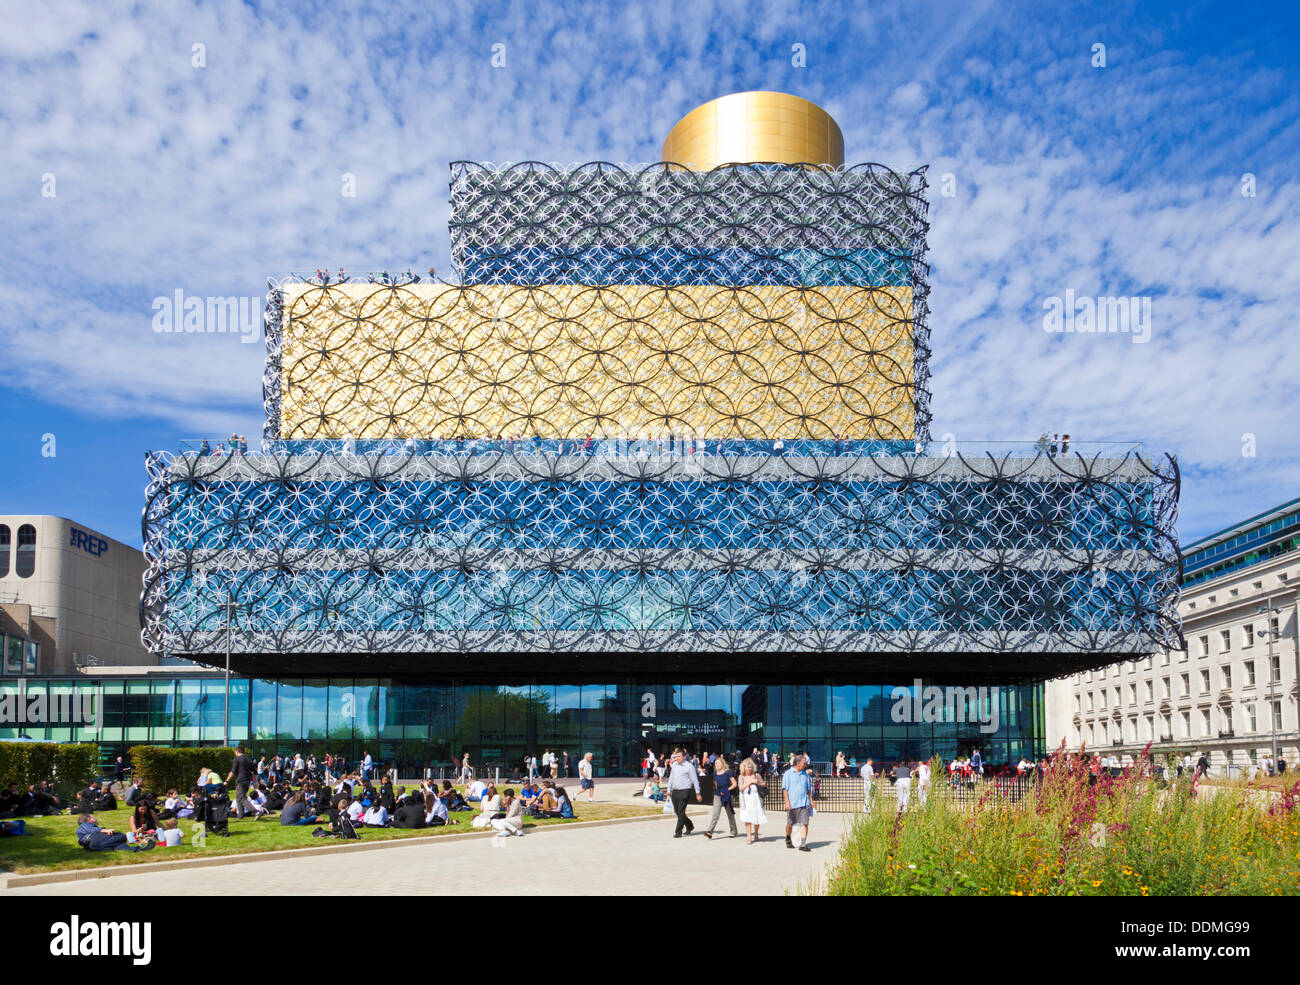
[[283,290],[283,438],[914,435],[910,287]]

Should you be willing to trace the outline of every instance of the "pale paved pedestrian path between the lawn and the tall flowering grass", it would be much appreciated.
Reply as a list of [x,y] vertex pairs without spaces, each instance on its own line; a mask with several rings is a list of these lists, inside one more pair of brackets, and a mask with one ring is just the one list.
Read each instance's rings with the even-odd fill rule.
[[[320,858],[242,862],[204,869],[56,882],[0,895],[779,895],[820,877],[838,858],[849,815],[819,815],[811,852],[784,845],[772,825],[757,845],[699,834],[672,837],[672,817],[582,828],[555,826],[521,838],[433,839]],[[777,820],[775,816],[772,820]],[[725,824],[725,820],[723,821]]]

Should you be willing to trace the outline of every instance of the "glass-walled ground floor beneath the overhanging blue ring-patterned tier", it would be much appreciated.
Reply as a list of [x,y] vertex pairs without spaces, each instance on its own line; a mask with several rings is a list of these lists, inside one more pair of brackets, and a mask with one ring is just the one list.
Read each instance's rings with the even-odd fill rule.
[[[13,691],[17,681],[0,681]],[[0,738],[100,743],[105,761],[136,745],[216,746],[226,729],[220,672],[147,677],[26,678],[23,720],[0,716]],[[40,715],[27,715],[46,695]],[[84,708],[94,721],[58,715]],[[841,682],[714,685],[650,677],[606,684],[430,682],[365,677],[230,681],[230,741],[254,754],[325,752],[356,761],[369,752],[403,774],[450,767],[468,752],[480,769],[512,772],[551,750],[572,761],[593,752],[599,776],[633,776],[646,748],[767,747],[829,761],[836,752],[902,759],[952,758],[979,747],[987,763],[1044,752],[1043,685],[952,689]],[[75,697],[78,700],[70,700]],[[935,699],[939,698],[936,702]],[[75,716],[74,716],[75,717]]]

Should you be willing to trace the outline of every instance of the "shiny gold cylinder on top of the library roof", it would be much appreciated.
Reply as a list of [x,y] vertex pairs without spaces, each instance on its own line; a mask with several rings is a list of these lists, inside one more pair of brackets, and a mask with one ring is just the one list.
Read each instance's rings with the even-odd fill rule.
[[663,161],[844,165],[844,134],[822,107],[788,92],[736,92],[692,109],[663,142]]

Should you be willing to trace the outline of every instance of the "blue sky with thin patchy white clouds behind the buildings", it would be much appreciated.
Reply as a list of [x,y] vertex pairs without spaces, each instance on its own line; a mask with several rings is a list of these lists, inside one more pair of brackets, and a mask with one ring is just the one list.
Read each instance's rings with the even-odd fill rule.
[[[1294,5],[0,8],[0,512],[139,544],[146,450],[261,434],[261,346],[155,298],[450,272],[448,161],[653,161],[754,88],[930,165],[935,435],[1140,438],[1184,541],[1300,495]],[[1150,340],[1045,333],[1066,290],[1152,298]]]

